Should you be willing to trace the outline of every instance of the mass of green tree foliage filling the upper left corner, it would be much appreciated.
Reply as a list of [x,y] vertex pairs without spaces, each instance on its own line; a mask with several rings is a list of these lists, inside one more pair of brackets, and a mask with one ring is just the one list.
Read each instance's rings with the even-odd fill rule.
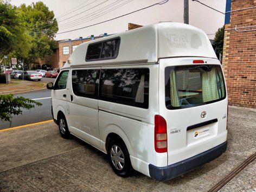
[[8,54],[25,64],[52,55],[58,24],[54,12],[43,2],[13,7],[0,0],[0,58]]

